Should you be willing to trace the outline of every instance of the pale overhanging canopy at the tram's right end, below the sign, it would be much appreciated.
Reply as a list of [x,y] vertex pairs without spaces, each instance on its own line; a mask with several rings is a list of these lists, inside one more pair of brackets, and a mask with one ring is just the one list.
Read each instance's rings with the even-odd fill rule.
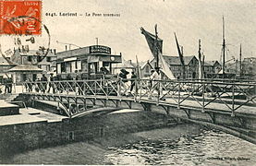
[[88,57],[88,63],[97,63],[99,61],[110,62],[110,63],[121,63],[122,58],[121,58],[121,55],[109,55],[109,54],[90,55]]

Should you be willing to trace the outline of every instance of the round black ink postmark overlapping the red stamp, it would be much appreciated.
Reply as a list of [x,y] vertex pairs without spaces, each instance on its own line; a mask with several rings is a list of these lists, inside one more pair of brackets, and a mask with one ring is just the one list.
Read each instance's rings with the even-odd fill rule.
[[[40,29],[41,35],[34,35],[30,33],[29,31],[20,31],[16,29],[9,29],[10,33],[13,35],[0,35],[0,54],[6,58],[6,61],[8,61],[11,64],[15,64],[15,62],[12,62],[11,58],[14,56],[16,52],[20,54],[26,54],[30,57],[36,57],[33,58],[35,60],[31,60],[31,65],[37,65],[40,62],[43,61],[43,59],[46,57],[46,55],[50,52],[50,31],[37,18],[27,17],[27,16],[19,16],[18,18],[11,18],[9,19],[9,22],[6,25],[11,25],[11,22],[16,22],[18,19],[18,22],[21,19],[30,19],[35,22],[37,25],[41,25],[42,28]],[[22,21],[20,23],[21,26]],[[6,28],[5,28],[6,29]]]

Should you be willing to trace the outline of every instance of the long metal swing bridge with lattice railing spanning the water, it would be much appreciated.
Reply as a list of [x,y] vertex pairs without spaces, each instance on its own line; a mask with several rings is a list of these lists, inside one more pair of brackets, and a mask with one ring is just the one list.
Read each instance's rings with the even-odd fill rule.
[[256,142],[256,81],[117,78],[33,81],[22,83],[18,97],[31,105],[35,101],[55,102],[59,113],[70,119],[140,109],[164,113],[177,120],[228,126],[254,137]]

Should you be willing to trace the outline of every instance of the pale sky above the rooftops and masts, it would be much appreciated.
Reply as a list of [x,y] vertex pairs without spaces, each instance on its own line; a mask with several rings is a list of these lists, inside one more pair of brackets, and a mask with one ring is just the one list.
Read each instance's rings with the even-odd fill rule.
[[[46,13],[77,12],[81,17],[47,17]],[[114,13],[120,17],[85,17],[85,13]],[[242,44],[245,57],[256,56],[255,0],[43,0],[43,23],[48,27],[52,47],[64,51],[65,45],[99,44],[113,53],[139,61],[152,58],[140,27],[154,30],[164,40],[164,54],[177,55],[174,32],[184,54],[198,52],[198,40],[206,60],[219,60],[222,43],[222,17],[226,21],[228,57],[238,57]],[[72,47],[76,48],[76,47]]]

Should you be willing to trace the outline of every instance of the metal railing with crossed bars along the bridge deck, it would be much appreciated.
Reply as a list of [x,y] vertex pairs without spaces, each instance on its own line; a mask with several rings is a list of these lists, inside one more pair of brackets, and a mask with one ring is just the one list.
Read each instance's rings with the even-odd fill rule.
[[[24,92],[74,96],[118,96],[134,101],[168,102],[180,107],[221,109],[234,112],[255,105],[256,83],[222,80],[95,79],[24,82]],[[218,105],[216,105],[218,104]]]

